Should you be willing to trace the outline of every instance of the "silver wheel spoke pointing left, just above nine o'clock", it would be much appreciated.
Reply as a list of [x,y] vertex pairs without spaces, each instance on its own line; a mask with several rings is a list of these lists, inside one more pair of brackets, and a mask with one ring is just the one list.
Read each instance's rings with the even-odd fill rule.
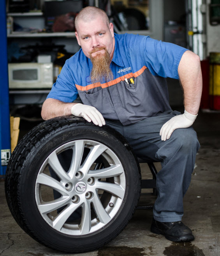
[[51,187],[51,188],[55,189],[56,191],[60,192],[60,194],[62,194],[63,196],[67,195],[67,191],[65,190],[64,187],[62,187],[60,182],[55,180],[54,178],[50,177],[47,174],[40,173],[37,176],[36,182],[39,183],[39,184],[46,185],[48,187]]

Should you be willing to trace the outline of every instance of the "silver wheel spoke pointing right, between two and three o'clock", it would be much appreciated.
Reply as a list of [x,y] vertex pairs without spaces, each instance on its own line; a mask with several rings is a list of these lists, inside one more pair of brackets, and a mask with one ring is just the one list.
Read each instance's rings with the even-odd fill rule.
[[118,176],[122,173],[123,173],[123,167],[122,165],[118,164],[118,165],[112,165],[110,167],[100,169],[97,171],[89,171],[88,175],[97,179],[101,179],[101,178]]

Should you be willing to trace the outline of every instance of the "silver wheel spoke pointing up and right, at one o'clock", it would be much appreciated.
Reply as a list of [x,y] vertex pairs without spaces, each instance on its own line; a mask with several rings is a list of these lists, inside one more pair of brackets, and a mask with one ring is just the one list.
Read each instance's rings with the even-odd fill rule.
[[88,172],[88,170],[90,169],[90,167],[92,166],[92,164],[95,162],[95,160],[104,152],[106,151],[107,147],[99,144],[94,146],[91,150],[90,153],[88,154],[88,156],[86,157],[81,169],[84,172]]

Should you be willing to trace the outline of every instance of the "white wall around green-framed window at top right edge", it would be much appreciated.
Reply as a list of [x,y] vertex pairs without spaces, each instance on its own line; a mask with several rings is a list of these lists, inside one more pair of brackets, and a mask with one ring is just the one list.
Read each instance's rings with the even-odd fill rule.
[[207,55],[210,52],[220,52],[220,24],[211,26],[209,23],[209,4],[211,0],[206,2],[206,29],[207,29]]

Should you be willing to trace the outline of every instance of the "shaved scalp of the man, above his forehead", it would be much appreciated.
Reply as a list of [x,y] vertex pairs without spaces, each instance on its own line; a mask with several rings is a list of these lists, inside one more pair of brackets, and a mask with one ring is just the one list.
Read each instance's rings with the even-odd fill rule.
[[92,20],[95,20],[97,17],[101,17],[102,20],[107,24],[107,27],[109,27],[109,18],[102,9],[99,9],[98,7],[94,6],[87,6],[79,12],[79,14],[76,16],[75,19],[75,28],[76,31],[79,28],[79,22],[90,22]]

